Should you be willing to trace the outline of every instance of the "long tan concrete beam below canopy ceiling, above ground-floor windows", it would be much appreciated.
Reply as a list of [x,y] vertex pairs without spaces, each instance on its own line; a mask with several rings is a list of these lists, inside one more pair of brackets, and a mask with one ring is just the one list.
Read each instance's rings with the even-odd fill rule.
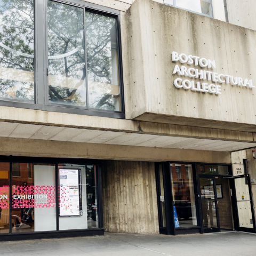
[[0,155],[231,163],[229,152],[0,138]]

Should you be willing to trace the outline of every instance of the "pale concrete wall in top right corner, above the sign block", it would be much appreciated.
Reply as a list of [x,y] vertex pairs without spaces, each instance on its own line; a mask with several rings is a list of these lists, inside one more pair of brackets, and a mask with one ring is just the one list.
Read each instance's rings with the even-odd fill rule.
[[256,30],[255,0],[227,0],[227,7],[230,23]]

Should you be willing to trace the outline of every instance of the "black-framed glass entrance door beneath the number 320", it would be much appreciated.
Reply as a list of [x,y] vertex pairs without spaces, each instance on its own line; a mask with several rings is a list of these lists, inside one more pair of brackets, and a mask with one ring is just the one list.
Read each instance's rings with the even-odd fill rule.
[[199,184],[204,233],[220,232],[215,178],[199,175]]

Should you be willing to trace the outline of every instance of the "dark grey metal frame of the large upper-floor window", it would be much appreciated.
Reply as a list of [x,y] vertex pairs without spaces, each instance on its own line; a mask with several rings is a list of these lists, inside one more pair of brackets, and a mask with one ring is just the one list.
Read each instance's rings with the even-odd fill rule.
[[[125,119],[124,108],[124,89],[123,89],[123,67],[122,67],[122,45],[121,45],[121,17],[120,11],[111,9],[109,7],[92,4],[82,0],[51,0],[63,4],[68,4],[76,7],[81,7],[85,11],[94,12],[97,14],[113,17],[117,21],[117,56],[118,56],[118,76],[120,88],[121,111],[114,110],[101,110],[92,108],[83,108],[79,106],[60,105],[48,102],[48,79],[46,75],[47,63],[47,0],[39,1],[34,0],[34,101],[20,101],[0,98],[0,106],[27,108],[35,110],[52,111],[67,114],[89,115],[100,117],[111,117]],[[85,20],[85,17],[84,17]],[[85,25],[86,26],[86,25]],[[84,27],[84,32],[85,32]],[[40,31],[40,33],[38,32]],[[85,43],[86,45],[86,43]],[[43,49],[43,50],[42,50]],[[85,47],[86,52],[86,47]],[[86,75],[87,75],[87,60],[86,60]],[[87,89],[87,76],[86,76],[86,89]],[[86,97],[88,105],[88,94],[86,90]]]

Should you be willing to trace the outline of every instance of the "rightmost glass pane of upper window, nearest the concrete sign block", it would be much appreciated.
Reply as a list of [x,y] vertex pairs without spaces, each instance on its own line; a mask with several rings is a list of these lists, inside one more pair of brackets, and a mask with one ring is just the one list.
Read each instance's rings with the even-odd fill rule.
[[86,12],[89,107],[121,111],[116,19]]

